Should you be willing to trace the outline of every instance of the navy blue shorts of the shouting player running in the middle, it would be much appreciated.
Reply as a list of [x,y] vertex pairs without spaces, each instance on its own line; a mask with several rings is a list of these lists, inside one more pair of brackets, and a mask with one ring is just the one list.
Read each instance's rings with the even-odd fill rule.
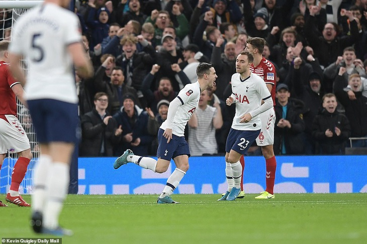
[[172,134],[172,139],[167,143],[167,139],[163,137],[163,130],[158,131],[158,150],[157,158],[170,161],[180,155],[188,155],[190,157],[189,144],[185,137],[177,137]]

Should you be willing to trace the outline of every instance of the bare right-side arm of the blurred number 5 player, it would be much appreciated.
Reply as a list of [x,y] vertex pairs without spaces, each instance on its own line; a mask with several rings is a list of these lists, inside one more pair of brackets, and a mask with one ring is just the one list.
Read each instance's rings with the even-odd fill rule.
[[72,57],[78,75],[83,78],[92,77],[94,74],[93,65],[87,57],[82,44],[80,42],[72,43],[67,47],[67,50]]

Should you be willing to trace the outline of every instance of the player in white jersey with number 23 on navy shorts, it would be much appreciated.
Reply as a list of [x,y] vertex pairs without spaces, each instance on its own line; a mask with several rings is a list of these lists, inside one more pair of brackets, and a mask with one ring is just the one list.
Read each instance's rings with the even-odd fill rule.
[[233,181],[227,181],[228,190],[219,201],[233,201],[241,191],[242,167],[239,160],[260,134],[261,119],[258,115],[272,107],[271,95],[264,81],[250,71],[252,62],[253,56],[247,51],[242,51],[237,56],[237,73],[231,79],[232,94],[226,99],[228,106],[236,104],[225,156],[226,178],[232,178]]

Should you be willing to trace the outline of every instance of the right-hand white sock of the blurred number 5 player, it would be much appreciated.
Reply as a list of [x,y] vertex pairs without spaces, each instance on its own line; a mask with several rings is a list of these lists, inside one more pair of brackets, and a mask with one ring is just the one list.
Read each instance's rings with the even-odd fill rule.
[[58,227],[59,215],[67,194],[70,178],[70,166],[65,163],[54,162],[50,167],[47,179],[47,200],[43,213],[42,225],[55,229]]

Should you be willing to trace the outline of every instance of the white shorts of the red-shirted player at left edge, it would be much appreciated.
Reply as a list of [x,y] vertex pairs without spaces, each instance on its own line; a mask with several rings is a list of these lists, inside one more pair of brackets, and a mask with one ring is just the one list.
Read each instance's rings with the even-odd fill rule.
[[18,118],[9,114],[0,115],[0,154],[19,153],[30,148],[28,137]]

